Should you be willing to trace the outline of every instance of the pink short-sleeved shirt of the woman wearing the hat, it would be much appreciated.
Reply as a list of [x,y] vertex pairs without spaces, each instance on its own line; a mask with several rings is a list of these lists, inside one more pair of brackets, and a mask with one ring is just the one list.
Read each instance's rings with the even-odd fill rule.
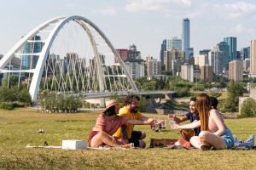
[[93,131],[99,131],[99,125],[105,127],[105,132],[109,135],[113,135],[125,122],[128,121],[128,117],[125,116],[116,116],[113,120],[108,120],[102,115],[97,117],[96,126],[92,128]]

